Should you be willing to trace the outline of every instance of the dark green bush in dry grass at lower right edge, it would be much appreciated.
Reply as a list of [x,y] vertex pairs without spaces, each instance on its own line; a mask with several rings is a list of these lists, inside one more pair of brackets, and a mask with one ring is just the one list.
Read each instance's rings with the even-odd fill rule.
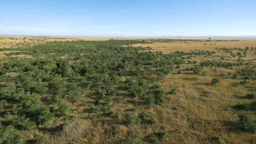
[[254,123],[252,117],[246,114],[240,114],[238,117],[239,120],[237,121],[237,128],[250,133],[256,132],[256,123]]

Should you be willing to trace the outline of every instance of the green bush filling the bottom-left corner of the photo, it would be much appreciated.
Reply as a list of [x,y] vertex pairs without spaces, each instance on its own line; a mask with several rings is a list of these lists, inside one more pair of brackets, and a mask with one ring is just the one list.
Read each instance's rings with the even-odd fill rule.
[[16,130],[13,125],[7,126],[0,131],[1,144],[22,144],[22,135],[20,131]]

